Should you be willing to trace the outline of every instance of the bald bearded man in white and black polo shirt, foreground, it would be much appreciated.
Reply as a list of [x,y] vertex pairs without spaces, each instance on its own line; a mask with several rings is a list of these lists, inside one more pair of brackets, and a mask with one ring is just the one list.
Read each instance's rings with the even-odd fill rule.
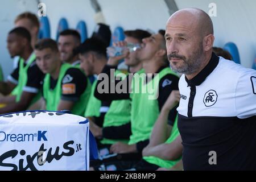
[[256,71],[212,52],[213,23],[199,9],[166,25],[171,68],[183,73],[178,127],[185,170],[256,169]]

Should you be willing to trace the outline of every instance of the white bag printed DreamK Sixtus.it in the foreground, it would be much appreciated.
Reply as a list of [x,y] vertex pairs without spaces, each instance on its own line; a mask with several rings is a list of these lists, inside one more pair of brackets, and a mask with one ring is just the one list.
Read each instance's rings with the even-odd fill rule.
[[84,117],[55,111],[0,116],[0,170],[88,170],[89,155]]

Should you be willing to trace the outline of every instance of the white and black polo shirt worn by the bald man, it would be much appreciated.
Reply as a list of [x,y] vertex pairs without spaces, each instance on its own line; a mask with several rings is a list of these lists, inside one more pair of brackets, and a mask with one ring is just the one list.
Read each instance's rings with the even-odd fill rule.
[[185,170],[256,169],[256,71],[212,55],[179,81]]

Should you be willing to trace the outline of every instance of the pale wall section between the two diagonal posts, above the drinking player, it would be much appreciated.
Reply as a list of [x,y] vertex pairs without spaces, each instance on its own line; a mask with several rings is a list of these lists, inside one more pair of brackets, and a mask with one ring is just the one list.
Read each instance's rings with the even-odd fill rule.
[[112,29],[122,26],[125,30],[143,28],[152,31],[164,29],[169,17],[163,0],[98,0]]

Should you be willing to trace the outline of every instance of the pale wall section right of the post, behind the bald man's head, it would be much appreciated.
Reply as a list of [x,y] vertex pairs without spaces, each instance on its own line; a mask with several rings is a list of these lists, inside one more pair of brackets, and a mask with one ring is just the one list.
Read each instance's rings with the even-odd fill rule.
[[209,3],[216,3],[217,16],[212,17],[214,46],[227,42],[237,44],[241,64],[251,68],[256,54],[256,1],[252,0],[176,0],[177,7],[197,7],[209,12]]

